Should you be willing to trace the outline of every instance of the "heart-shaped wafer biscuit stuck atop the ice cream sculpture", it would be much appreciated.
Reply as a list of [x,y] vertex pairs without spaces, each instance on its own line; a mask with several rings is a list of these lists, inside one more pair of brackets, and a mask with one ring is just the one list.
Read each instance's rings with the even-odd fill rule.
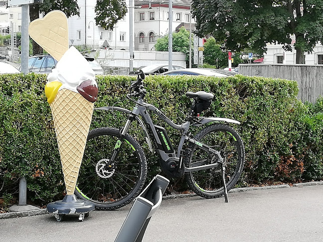
[[68,50],[68,23],[64,12],[54,10],[29,24],[30,37],[57,61]]

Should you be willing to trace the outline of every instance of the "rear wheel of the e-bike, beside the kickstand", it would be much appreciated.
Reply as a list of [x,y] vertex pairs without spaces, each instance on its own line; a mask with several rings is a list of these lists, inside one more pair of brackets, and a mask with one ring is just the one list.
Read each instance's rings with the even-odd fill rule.
[[[211,148],[220,151],[224,158],[225,181],[230,190],[239,179],[244,165],[244,145],[239,134],[225,124],[212,124],[199,131],[195,138]],[[186,167],[212,164],[218,161],[217,155],[194,145],[185,161]],[[218,167],[193,171],[185,175],[188,186],[204,198],[216,198],[224,194],[221,164]]]

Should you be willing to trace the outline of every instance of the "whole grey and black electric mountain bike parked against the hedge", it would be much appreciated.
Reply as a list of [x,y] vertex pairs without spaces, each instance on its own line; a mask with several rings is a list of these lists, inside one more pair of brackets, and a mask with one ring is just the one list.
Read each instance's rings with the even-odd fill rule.
[[[143,128],[151,150],[153,145],[150,140],[153,140],[161,169],[167,176],[178,178],[185,175],[188,186],[197,195],[216,198],[224,194],[227,202],[227,192],[235,185],[243,169],[244,145],[239,134],[223,122],[240,122],[199,117],[210,107],[213,94],[187,92],[186,96],[193,99],[191,110],[184,123],[175,124],[155,106],[144,102],[147,94],[143,86],[144,78],[144,73],[140,72],[127,94],[127,98],[136,104],[132,111],[119,107],[96,109],[124,112],[128,119],[121,129],[101,127],[89,132],[76,196],[93,202],[96,209],[114,210],[129,204],[140,194],[146,181],[147,160],[142,146],[128,133],[136,120]],[[153,123],[148,111],[181,132],[177,151],[166,130]],[[201,126],[210,122],[213,123],[195,136],[191,135],[191,125]]]

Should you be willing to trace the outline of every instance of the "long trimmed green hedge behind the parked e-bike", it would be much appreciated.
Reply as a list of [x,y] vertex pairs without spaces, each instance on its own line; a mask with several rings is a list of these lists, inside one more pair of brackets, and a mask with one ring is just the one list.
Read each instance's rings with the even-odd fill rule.
[[[98,76],[96,107],[131,109],[125,99],[131,76]],[[17,196],[18,178],[27,179],[28,198],[47,204],[62,196],[65,186],[49,105],[44,95],[45,75],[0,76],[0,198]],[[187,91],[214,93],[214,116],[235,119],[246,148],[246,165],[238,186],[273,182],[320,180],[323,176],[323,99],[313,104],[297,100],[294,81],[245,77],[148,76],[146,101],[181,123],[190,107]],[[91,128],[122,126],[118,112],[95,111]],[[123,116],[125,118],[125,116]],[[177,130],[163,125],[173,143]],[[195,132],[195,130],[193,130]],[[150,152],[136,125],[131,129],[144,145],[149,180],[160,173],[158,157]],[[24,162],[22,162],[24,160]],[[182,186],[182,180],[172,181]],[[178,185],[179,184],[179,185]]]

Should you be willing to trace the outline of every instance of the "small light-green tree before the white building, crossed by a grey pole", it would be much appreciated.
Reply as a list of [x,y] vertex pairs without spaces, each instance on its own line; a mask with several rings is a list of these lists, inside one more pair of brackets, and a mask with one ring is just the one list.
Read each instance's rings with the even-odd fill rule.
[[[193,38],[191,38],[191,46],[193,47]],[[168,34],[157,39],[155,50],[168,51]],[[184,27],[180,27],[177,33],[172,34],[172,50],[186,54],[186,66],[189,63],[189,31]]]

